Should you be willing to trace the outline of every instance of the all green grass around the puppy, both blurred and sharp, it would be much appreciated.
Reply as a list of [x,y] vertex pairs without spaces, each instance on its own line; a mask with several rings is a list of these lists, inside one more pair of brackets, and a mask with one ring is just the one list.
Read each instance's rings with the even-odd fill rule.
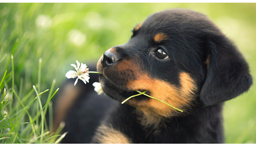
[[[127,42],[148,15],[169,8],[206,14],[234,41],[256,76],[256,4],[1,3],[0,143],[59,142],[46,118],[52,121],[52,95],[70,64],[97,61],[108,48]],[[225,103],[227,143],[256,143],[255,96],[252,86]]]

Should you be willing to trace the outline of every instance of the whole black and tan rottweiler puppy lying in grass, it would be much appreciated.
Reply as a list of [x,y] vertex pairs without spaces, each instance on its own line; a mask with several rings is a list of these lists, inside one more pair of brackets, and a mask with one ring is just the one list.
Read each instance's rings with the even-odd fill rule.
[[[252,85],[237,47],[207,16],[187,9],[150,15],[127,43],[101,56],[97,71],[89,85],[69,80],[59,96],[70,101],[56,103],[55,125],[65,120],[69,131],[63,143],[223,143],[223,101]],[[94,81],[109,97],[93,91]],[[121,104],[136,91],[184,112],[144,95]]]

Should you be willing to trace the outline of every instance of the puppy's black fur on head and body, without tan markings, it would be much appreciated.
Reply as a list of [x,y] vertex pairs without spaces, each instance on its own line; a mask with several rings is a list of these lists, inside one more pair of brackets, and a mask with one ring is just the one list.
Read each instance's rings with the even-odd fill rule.
[[[167,36],[160,43],[154,41],[154,35],[159,32]],[[155,56],[154,52],[159,46],[169,58],[163,60]],[[102,67],[97,68],[103,73],[99,77],[103,91],[112,99],[98,96],[93,89],[82,92],[65,120],[67,124],[63,131],[69,133],[63,143],[97,142],[91,141],[91,138],[102,121],[112,124],[132,143],[225,142],[223,101],[248,91],[252,77],[248,64],[236,46],[205,15],[186,9],[155,13],[139,29],[133,30],[127,43],[113,48],[115,52],[105,53],[99,62]],[[207,65],[205,61],[209,57],[210,63]],[[181,88],[179,74],[188,73],[197,87],[191,103],[192,110],[163,118],[157,127],[158,132],[155,132],[155,128],[143,127],[136,114],[136,105],[119,102],[137,94],[127,89],[127,84],[136,79],[138,70],[131,66],[118,72],[117,66],[124,60],[136,62],[139,71],[148,73],[150,78],[165,81],[177,88]],[[97,77],[90,75],[90,82],[93,82]],[[78,86],[90,88],[87,84]],[[149,91],[147,93],[150,94]],[[138,103],[148,100],[143,95],[131,99]],[[187,109],[185,105],[181,107]]]

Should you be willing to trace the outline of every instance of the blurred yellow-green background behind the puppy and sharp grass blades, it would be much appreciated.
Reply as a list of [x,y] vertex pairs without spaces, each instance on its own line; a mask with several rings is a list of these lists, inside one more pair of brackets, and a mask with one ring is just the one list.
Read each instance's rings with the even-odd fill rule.
[[[41,90],[54,78],[61,87],[75,61],[96,62],[105,50],[129,40],[132,28],[154,12],[187,8],[206,14],[238,46],[256,77],[255,3],[0,3],[0,78],[11,86],[14,56],[15,89],[20,94],[38,83]],[[22,84],[22,89],[20,89]],[[33,93],[34,94],[34,93]],[[225,103],[226,143],[256,143],[256,87]],[[44,99],[42,99],[44,100]]]

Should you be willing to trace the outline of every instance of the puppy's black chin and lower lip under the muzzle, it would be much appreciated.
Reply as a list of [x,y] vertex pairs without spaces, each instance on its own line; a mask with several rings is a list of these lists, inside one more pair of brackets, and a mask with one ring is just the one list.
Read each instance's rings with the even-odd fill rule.
[[[127,88],[125,88],[125,86],[123,86],[123,85],[118,85],[118,83],[115,84],[115,82],[110,81],[108,78],[106,78],[105,76],[102,76],[102,75],[99,77],[99,81],[101,82],[103,92],[107,96],[111,97],[112,99],[120,101],[120,102],[124,101],[125,99],[127,99],[130,96],[139,94],[136,91],[127,90]],[[137,96],[135,98],[128,100],[127,103],[130,103],[130,104],[133,103],[132,105],[134,105],[134,102],[131,102],[131,101],[139,102],[139,101],[147,100],[147,99],[148,99],[148,97],[146,97],[144,95],[140,95],[140,96]]]

